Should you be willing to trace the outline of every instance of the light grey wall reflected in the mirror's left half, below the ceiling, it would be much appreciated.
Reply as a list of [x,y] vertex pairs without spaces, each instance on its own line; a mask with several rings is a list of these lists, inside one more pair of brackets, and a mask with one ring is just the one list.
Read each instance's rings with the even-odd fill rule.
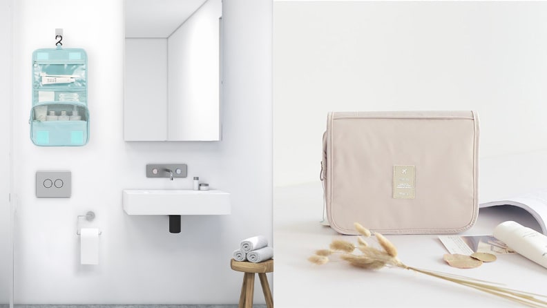
[[167,39],[125,40],[125,89],[124,139],[167,140]]

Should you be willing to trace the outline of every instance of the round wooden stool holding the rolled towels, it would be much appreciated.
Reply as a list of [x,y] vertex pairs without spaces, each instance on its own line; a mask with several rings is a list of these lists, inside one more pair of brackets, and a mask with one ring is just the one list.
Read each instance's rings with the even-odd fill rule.
[[260,285],[262,285],[262,292],[264,292],[264,298],[266,299],[267,307],[274,308],[274,299],[271,298],[268,278],[266,277],[266,273],[271,273],[272,271],[274,271],[274,260],[270,259],[260,263],[252,263],[239,262],[232,259],[230,262],[230,266],[231,269],[233,269],[234,271],[242,271],[244,273],[239,308],[253,307],[255,273],[258,273],[258,278],[260,278]]

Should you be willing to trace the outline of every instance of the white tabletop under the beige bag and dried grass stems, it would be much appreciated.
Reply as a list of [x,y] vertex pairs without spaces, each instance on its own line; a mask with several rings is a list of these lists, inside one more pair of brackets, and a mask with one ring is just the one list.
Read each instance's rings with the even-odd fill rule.
[[[349,267],[345,262],[329,262],[323,266],[309,263],[307,258],[317,249],[327,248],[333,238],[356,242],[355,236],[338,235],[318,223],[322,207],[320,182],[274,189],[274,302],[277,308],[521,307],[503,298],[404,269],[367,271]],[[526,211],[498,207],[481,209],[474,227],[461,234],[491,234],[497,224],[506,220],[539,228]],[[547,269],[518,254],[499,256],[497,261],[476,269],[456,269],[443,261],[447,251],[436,235],[386,237],[399,250],[399,258],[409,266],[547,294]]]

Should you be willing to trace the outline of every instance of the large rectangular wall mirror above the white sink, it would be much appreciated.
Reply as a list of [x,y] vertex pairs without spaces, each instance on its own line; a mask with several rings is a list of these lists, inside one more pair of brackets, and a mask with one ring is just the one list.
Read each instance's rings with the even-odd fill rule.
[[222,0],[126,0],[124,139],[222,136]]

